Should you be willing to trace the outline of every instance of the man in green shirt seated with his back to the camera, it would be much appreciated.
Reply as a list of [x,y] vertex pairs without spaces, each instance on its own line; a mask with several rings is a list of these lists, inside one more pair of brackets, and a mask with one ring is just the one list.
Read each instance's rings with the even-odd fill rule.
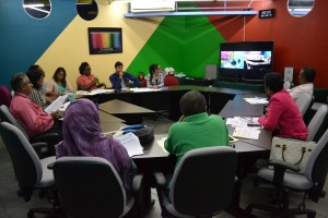
[[189,90],[179,105],[183,116],[169,128],[164,143],[165,149],[178,157],[176,166],[191,149],[229,145],[227,128],[220,116],[207,113],[203,95],[198,90]]

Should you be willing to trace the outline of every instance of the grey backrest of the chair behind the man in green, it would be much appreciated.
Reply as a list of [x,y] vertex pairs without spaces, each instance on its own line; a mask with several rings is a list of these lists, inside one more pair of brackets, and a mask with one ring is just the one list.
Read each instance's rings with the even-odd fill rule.
[[215,146],[188,152],[177,166],[169,191],[174,208],[185,215],[209,215],[226,208],[232,198],[236,152]]

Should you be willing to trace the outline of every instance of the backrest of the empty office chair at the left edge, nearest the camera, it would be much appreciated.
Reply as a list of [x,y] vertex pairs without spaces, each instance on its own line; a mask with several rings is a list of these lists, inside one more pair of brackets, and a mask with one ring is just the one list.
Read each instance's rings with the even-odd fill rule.
[[20,186],[34,186],[43,177],[39,158],[24,134],[14,125],[0,123],[0,134],[10,154]]

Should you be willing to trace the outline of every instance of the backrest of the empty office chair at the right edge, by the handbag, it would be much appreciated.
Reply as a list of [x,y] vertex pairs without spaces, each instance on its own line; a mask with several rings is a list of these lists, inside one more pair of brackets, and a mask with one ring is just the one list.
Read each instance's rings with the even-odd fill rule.
[[321,136],[314,150],[311,153],[306,165],[305,175],[308,180],[325,182],[328,170],[328,130]]

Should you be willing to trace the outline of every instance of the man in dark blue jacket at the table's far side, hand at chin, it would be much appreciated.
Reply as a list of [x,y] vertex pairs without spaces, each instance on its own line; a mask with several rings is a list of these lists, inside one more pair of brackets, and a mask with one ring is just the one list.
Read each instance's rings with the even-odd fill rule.
[[115,72],[109,76],[109,81],[114,89],[140,86],[137,77],[122,70],[124,69],[122,62],[117,61],[114,66],[115,66]]

